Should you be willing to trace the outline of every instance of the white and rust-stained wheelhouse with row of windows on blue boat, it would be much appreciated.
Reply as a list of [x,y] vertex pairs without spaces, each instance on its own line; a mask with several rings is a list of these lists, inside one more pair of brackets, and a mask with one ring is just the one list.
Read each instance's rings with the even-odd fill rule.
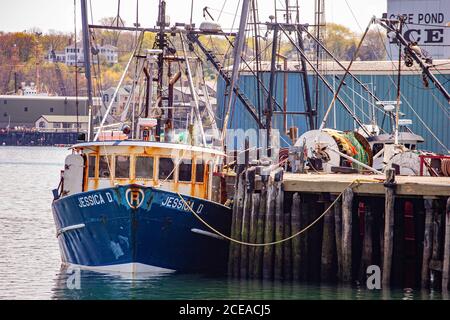
[[82,143],[66,160],[61,194],[137,184],[212,200],[213,173],[223,157],[220,150],[175,143]]

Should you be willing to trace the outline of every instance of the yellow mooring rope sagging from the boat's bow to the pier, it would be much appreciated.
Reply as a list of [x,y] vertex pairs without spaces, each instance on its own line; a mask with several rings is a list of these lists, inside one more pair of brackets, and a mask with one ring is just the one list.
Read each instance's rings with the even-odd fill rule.
[[[345,189],[347,188],[355,188],[357,185],[359,185],[361,182],[375,182],[375,183],[380,183],[382,181],[380,180],[370,180],[370,179],[355,179],[352,181],[352,183],[350,183]],[[344,189],[344,191],[345,191]],[[301,235],[302,233],[306,232],[308,229],[312,228],[317,222],[319,222],[330,210],[331,208],[339,201],[339,199],[342,197],[342,195],[344,194],[344,191],[342,191],[337,197],[336,199],[333,201],[333,203],[319,216],[317,217],[313,222],[311,222],[308,226],[306,226],[305,228],[303,228],[302,230],[298,231],[297,233],[284,238],[282,240],[278,240],[278,241],[273,241],[273,242],[267,242],[267,243],[250,243],[250,242],[243,242],[243,241],[239,241],[233,238],[230,238],[226,235],[224,235],[223,233],[221,233],[219,230],[215,229],[213,226],[211,226],[210,224],[208,224],[205,220],[203,220],[194,210],[192,210],[192,207],[184,200],[184,198],[181,196],[181,194],[179,192],[177,192],[178,196],[180,197],[181,201],[183,201],[183,204],[185,206],[187,206],[189,208],[189,211],[191,211],[191,213],[198,219],[200,220],[200,222],[202,222],[206,227],[208,227],[211,231],[215,232],[217,235],[240,245],[244,245],[244,246],[249,246],[249,247],[264,247],[264,246],[273,246],[273,245],[277,245],[286,241],[289,241],[299,235]]]

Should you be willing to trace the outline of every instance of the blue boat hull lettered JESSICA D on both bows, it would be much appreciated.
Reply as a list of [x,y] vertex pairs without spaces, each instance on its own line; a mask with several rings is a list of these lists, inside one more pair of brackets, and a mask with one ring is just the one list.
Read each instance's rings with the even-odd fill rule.
[[[208,224],[230,234],[229,208],[183,198]],[[61,198],[52,209],[65,264],[98,271],[226,272],[228,241],[176,193],[117,186]]]

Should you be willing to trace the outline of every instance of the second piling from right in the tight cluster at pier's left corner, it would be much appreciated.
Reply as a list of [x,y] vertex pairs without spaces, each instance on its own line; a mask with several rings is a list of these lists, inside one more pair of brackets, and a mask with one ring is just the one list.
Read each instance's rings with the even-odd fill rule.
[[[267,200],[266,200],[266,216],[264,224],[264,243],[270,243],[274,241],[275,236],[275,200],[276,200],[276,186],[275,182],[269,178],[267,187]],[[274,247],[264,246],[263,250],[263,278],[273,279],[274,275]]]

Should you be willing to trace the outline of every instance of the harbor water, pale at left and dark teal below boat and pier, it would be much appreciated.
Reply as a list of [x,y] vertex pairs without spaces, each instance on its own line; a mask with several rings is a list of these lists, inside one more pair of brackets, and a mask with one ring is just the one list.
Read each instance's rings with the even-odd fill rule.
[[61,259],[52,189],[67,148],[0,146],[0,299],[447,299],[439,292],[368,290],[165,274],[129,278],[81,271]]

